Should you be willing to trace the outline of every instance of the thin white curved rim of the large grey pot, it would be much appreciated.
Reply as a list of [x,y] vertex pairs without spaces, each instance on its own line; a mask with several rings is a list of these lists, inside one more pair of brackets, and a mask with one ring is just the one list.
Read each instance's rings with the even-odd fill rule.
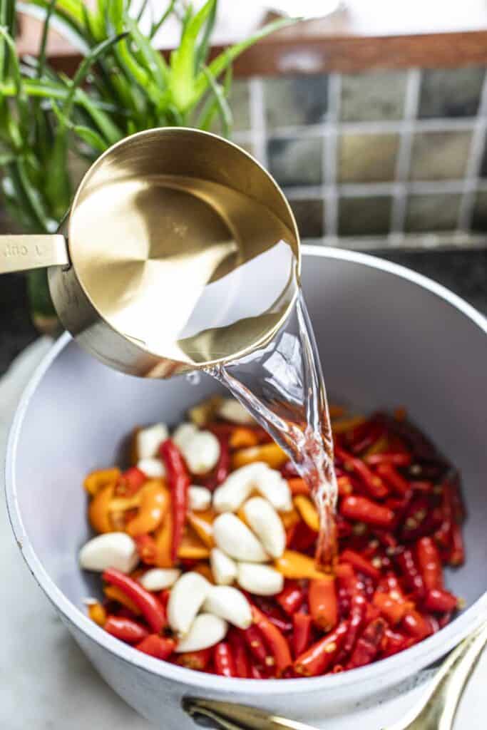
[[[450,304],[450,306],[455,307],[456,310],[459,310],[469,320],[475,323],[484,334],[487,334],[487,318],[475,310],[474,307],[467,304],[464,299],[461,299],[461,297],[449,291],[444,286],[434,282],[428,277],[424,277],[422,274],[417,274],[416,272],[407,269],[405,266],[392,264],[389,261],[372,255],[333,247],[303,245],[302,253],[307,258],[310,256],[316,256],[318,258],[333,258],[341,261],[350,261],[354,264],[369,266],[372,269],[380,269],[383,272],[393,274],[396,277],[407,280],[414,285],[430,291],[434,295],[440,297],[440,299],[443,299],[445,302]],[[193,693],[210,692],[215,694],[215,692],[218,692],[219,694],[232,695],[242,693],[242,695],[245,694],[245,701],[251,702],[253,697],[258,697],[259,699],[265,699],[266,697],[274,699],[279,696],[283,696],[284,694],[288,695],[290,692],[306,694],[314,691],[343,691],[352,688],[353,685],[356,685],[357,683],[370,683],[372,681],[375,682],[377,686],[380,686],[381,678],[386,675],[396,675],[396,677],[399,678],[399,675],[404,676],[404,673],[418,672],[424,666],[432,664],[433,661],[436,661],[437,658],[440,658],[440,656],[444,655],[448,650],[461,641],[461,639],[467,636],[470,631],[475,629],[477,626],[480,626],[480,623],[485,619],[487,613],[487,591],[486,593],[483,593],[483,596],[480,596],[480,598],[475,601],[472,606],[461,613],[461,615],[459,615],[459,617],[452,623],[438,631],[437,634],[433,634],[433,636],[428,639],[423,640],[419,644],[404,650],[395,656],[383,659],[369,666],[343,672],[342,674],[327,675],[324,677],[307,677],[305,681],[303,679],[289,679],[285,680],[285,682],[272,679],[261,682],[257,680],[218,677],[204,672],[194,672],[191,669],[186,669],[185,667],[177,666],[175,664],[169,664],[147,656],[142,652],[134,650],[131,646],[123,644],[110,634],[107,634],[106,631],[103,631],[103,629],[97,626],[96,623],[84,615],[83,612],[81,612],[81,610],[75,606],[62,591],[60,591],[54,581],[47,574],[47,571],[44,566],[42,566],[41,561],[37,557],[37,554],[28,539],[18,505],[15,462],[23,420],[31,398],[34,396],[42,377],[44,377],[50,365],[69,344],[71,339],[72,338],[69,333],[66,332],[58,339],[57,342],[55,342],[55,345],[51,347],[47,355],[42,358],[41,363],[34,372],[34,375],[31,377],[26,389],[23,391],[20,403],[18,404],[7,442],[7,459],[5,464],[7,509],[9,512],[10,524],[15,534],[15,539],[20,552],[22,553],[29,570],[32,575],[34,575],[34,578],[37,580],[37,583],[39,583],[42,590],[45,592],[47,598],[50,599],[50,602],[53,603],[56,609],[61,612],[69,623],[74,624],[74,626],[82,631],[83,634],[92,639],[93,642],[101,645],[101,647],[106,649],[116,658],[126,662],[127,664],[136,666],[138,669],[142,669],[152,675],[164,677],[183,685],[187,685],[188,689],[191,688]]]

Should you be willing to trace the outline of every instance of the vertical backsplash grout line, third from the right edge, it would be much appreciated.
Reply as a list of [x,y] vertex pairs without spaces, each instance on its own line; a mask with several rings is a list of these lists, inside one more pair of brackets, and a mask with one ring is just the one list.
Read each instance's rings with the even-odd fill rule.
[[328,115],[326,117],[326,136],[323,143],[323,183],[325,184],[325,204],[323,205],[323,232],[329,237],[338,234],[338,196],[337,196],[337,122],[340,119],[340,96],[342,78],[331,73],[328,77]]

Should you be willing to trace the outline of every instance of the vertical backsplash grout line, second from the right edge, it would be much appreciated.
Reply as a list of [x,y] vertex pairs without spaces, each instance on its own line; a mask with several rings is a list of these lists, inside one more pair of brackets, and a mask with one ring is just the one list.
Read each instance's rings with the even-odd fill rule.
[[407,206],[407,180],[410,174],[413,133],[418,118],[419,94],[421,89],[421,70],[407,72],[406,93],[404,98],[404,120],[399,139],[399,152],[396,159],[396,193],[391,208],[391,242],[394,236],[404,231]]

